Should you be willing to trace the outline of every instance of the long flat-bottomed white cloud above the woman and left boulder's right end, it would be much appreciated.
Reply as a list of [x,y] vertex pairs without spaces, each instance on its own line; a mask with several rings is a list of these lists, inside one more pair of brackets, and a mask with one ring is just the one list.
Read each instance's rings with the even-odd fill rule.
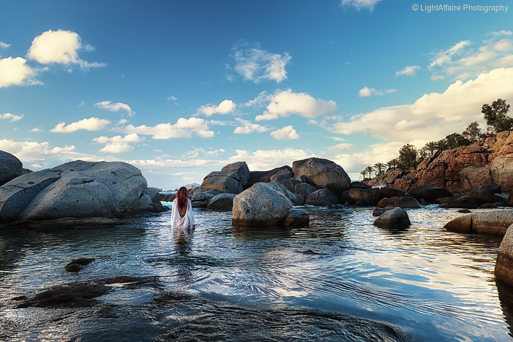
[[214,132],[208,127],[205,119],[198,117],[184,118],[176,120],[175,124],[158,124],[155,126],[133,126],[127,125],[120,128],[124,133],[137,133],[151,135],[153,139],[172,139],[172,138],[192,138],[196,135],[201,138],[211,138]]

